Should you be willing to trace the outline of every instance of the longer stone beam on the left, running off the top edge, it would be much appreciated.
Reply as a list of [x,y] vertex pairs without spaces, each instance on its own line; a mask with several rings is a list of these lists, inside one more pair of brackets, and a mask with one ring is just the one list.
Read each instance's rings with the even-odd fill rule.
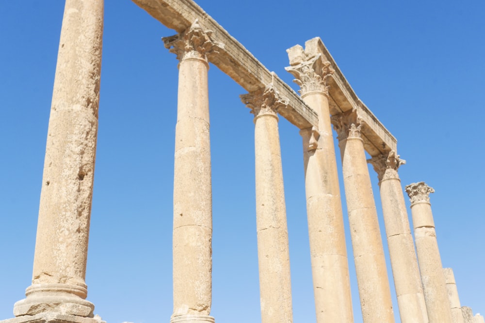
[[[280,95],[289,101],[278,113],[300,129],[318,126],[318,116],[274,73],[261,64],[241,43],[224,30],[210,15],[192,0],[132,0],[148,14],[168,28],[182,32],[195,19],[206,30],[212,31],[211,40],[218,44],[217,54],[208,54],[208,60],[231,77],[246,91],[253,92],[273,82]],[[167,35],[168,36],[168,35]]]

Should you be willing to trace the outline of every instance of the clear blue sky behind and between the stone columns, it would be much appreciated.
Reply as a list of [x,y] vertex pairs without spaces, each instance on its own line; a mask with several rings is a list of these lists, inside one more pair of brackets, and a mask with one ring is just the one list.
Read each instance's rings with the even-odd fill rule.
[[[129,0],[105,2],[88,299],[109,323],[169,322],[178,71],[160,38],[175,32]],[[398,139],[407,160],[403,186],[425,181],[435,188],[443,266],[454,270],[462,306],[484,313],[485,2],[198,3],[295,90],[285,50],[322,38],[356,94]],[[12,317],[31,283],[63,10],[59,0],[0,1],[0,319]],[[239,100],[245,91],[215,66],[209,91],[212,315],[219,323],[259,322],[253,118]],[[301,137],[283,118],[279,125],[294,322],[315,322]],[[347,230],[345,209],[344,223]],[[347,250],[361,322],[349,235]],[[394,292],[389,263],[388,274]],[[393,302],[399,322],[395,296]]]

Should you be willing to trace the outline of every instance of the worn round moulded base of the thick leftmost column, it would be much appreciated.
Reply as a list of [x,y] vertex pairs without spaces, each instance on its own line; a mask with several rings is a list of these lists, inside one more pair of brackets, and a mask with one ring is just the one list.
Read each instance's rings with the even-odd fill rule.
[[25,294],[27,297],[14,305],[16,317],[42,313],[93,317],[94,304],[84,299],[87,290],[83,287],[69,284],[34,284],[27,288]]

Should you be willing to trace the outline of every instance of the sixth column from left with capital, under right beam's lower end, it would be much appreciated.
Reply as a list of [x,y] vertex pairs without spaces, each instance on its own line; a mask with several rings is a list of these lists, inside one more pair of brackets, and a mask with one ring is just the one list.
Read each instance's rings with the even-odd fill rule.
[[418,260],[407,217],[404,192],[398,175],[405,163],[394,151],[368,160],[377,172],[389,256],[403,323],[428,322]]

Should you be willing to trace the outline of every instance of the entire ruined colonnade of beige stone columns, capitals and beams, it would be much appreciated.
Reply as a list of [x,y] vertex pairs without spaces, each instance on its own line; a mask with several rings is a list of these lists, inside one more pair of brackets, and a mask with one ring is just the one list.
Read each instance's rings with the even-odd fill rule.
[[[300,93],[263,66],[192,0],[133,0],[177,34],[178,60],[171,323],[211,316],[212,190],[207,71],[216,65],[247,93],[255,124],[256,221],[261,320],[291,323],[290,257],[278,118],[303,138],[316,322],[354,322],[334,133],[343,165],[358,292],[365,323],[392,323],[383,242],[367,163],[377,172],[401,322],[479,323],[442,268],[429,193],[406,186],[397,141],[357,97],[320,38],[287,50]],[[82,32],[81,32],[82,31]],[[100,323],[85,283],[103,33],[102,0],[66,0],[44,164],[32,285],[0,323]],[[80,37],[80,35],[83,35]],[[66,46],[64,46],[66,45]],[[175,57],[174,57],[175,58]],[[177,62],[174,61],[174,64]],[[72,71],[77,71],[72,73]],[[365,153],[372,156],[366,160]],[[62,155],[61,155],[62,154]],[[67,155],[67,157],[66,157]],[[416,251],[415,253],[415,246]]]

